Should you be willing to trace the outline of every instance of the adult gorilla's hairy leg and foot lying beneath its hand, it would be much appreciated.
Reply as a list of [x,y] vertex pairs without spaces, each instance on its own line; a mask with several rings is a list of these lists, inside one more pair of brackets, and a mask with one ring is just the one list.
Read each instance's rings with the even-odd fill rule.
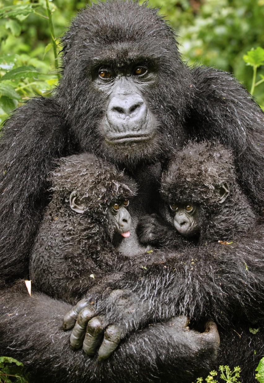
[[218,333],[213,325],[201,334],[189,331],[187,318],[179,317],[136,332],[112,358],[99,362],[82,350],[70,349],[70,334],[61,328],[70,308],[42,294],[30,297],[21,291],[2,291],[0,354],[21,360],[33,379],[43,383],[50,382],[51,376],[54,383],[189,383],[215,360]]

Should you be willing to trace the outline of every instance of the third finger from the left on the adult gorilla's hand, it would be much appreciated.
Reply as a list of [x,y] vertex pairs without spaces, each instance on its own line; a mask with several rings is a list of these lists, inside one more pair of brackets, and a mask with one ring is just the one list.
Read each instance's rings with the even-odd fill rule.
[[96,316],[89,321],[83,343],[85,354],[95,355],[107,325],[108,322],[104,316]]

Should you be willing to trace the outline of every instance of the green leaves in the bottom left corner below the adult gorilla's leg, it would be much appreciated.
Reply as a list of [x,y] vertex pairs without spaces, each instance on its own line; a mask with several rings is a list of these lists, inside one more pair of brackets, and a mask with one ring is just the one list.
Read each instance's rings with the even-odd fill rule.
[[1,383],[30,383],[30,381],[30,376],[26,373],[23,363],[10,357],[0,357]]

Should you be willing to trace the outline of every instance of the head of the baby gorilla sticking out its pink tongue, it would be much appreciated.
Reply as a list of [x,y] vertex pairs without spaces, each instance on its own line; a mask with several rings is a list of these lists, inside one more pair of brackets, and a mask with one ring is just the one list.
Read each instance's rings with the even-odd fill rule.
[[110,238],[115,232],[129,237],[131,218],[129,198],[136,185],[123,172],[93,154],[63,157],[51,173],[52,201],[71,219],[79,214],[82,224],[105,229]]

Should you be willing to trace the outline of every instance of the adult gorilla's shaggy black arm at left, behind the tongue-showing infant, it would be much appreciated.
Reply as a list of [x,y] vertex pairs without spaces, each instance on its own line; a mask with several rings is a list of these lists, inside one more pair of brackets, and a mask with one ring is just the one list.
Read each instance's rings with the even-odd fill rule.
[[0,279],[28,273],[27,256],[41,217],[53,159],[63,154],[67,131],[53,98],[34,98],[3,128],[0,157]]

